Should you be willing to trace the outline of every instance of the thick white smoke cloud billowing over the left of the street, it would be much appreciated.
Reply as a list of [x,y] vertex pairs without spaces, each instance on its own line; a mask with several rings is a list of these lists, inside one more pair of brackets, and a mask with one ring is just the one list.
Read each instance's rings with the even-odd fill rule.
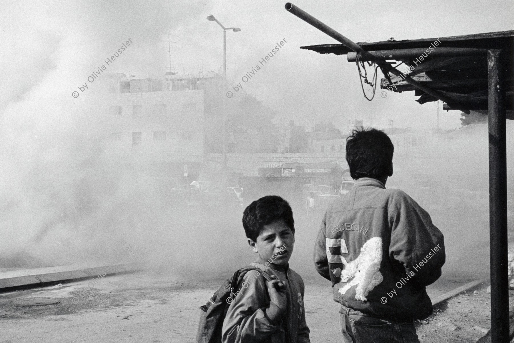
[[[105,260],[128,243],[137,251],[149,226],[159,228],[161,199],[104,139],[105,89],[71,94],[128,38],[131,50],[106,73],[162,75],[162,32],[207,3],[2,6],[0,268]],[[134,260],[144,260],[142,242]]]

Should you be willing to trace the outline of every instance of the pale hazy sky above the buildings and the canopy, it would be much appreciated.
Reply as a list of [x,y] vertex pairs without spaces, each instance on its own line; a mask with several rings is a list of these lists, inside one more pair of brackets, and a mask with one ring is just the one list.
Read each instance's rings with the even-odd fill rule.
[[[47,101],[74,111],[94,101],[87,92],[71,93],[97,70],[122,42],[133,44],[105,73],[160,77],[168,69],[168,36],[172,66],[182,73],[200,69],[221,72],[226,27],[227,78],[230,85],[255,65],[245,91],[279,114],[311,127],[333,121],[344,129],[348,119],[398,127],[434,127],[436,106],[417,104],[414,92],[363,98],[355,63],[346,56],[320,55],[300,46],[337,43],[284,9],[285,1],[21,1],[4,2],[0,14],[2,53],[0,104],[21,99]],[[356,42],[438,38],[514,28],[511,1],[305,1],[299,6]],[[277,42],[286,44],[264,66],[259,64]],[[378,92],[379,93],[379,92]],[[35,96],[38,94],[38,96]],[[241,93],[236,94],[239,96]],[[30,106],[29,106],[30,107]],[[460,125],[459,112],[442,112],[440,125]]]

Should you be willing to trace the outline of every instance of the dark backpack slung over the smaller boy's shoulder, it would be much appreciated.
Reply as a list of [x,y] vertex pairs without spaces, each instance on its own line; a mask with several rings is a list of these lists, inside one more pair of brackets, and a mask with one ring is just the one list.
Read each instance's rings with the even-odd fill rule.
[[258,267],[247,266],[236,270],[232,278],[225,280],[222,286],[214,292],[207,304],[200,306],[200,322],[196,333],[197,343],[222,343],[223,320],[230,304],[238,294],[235,292],[237,285],[252,269],[258,270],[266,280],[271,281],[268,273]]

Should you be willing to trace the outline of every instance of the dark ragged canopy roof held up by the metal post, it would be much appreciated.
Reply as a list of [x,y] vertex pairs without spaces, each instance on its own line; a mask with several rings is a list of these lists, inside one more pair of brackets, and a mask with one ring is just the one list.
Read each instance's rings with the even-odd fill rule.
[[[437,42],[437,46],[433,45],[434,42]],[[466,109],[483,114],[486,114],[488,109],[487,50],[501,49],[503,56],[500,61],[500,73],[505,81],[506,116],[507,119],[514,119],[514,30],[357,44],[364,51],[371,52],[371,56],[405,63],[410,66],[410,73],[406,73],[406,76],[460,103]],[[372,61],[370,56],[362,56],[362,53],[353,52],[343,44],[322,44],[301,48],[319,53],[347,55],[348,61],[351,62],[356,61],[357,56],[360,61]],[[429,48],[430,52],[427,53]],[[417,89],[402,76],[390,75],[389,78],[382,78],[380,86],[397,93],[415,91],[414,95],[419,96],[416,101],[420,104],[437,100],[434,96]],[[444,109],[452,110],[457,107],[445,103]]]

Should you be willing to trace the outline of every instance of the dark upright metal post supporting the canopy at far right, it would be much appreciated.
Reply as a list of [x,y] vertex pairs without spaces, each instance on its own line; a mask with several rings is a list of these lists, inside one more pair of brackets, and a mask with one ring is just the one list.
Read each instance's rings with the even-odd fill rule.
[[507,154],[502,50],[487,51],[489,99],[489,237],[491,343],[509,341],[507,275]]

